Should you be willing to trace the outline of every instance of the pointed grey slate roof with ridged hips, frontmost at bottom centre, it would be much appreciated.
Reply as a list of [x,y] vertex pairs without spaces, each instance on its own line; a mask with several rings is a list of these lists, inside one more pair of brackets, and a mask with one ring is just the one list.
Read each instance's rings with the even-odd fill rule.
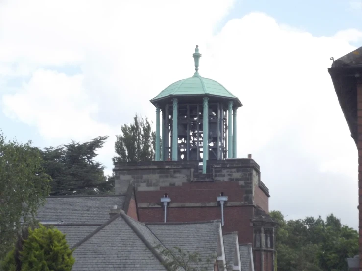
[[164,248],[144,224],[121,212],[76,244],[72,271],[166,270],[157,246]]

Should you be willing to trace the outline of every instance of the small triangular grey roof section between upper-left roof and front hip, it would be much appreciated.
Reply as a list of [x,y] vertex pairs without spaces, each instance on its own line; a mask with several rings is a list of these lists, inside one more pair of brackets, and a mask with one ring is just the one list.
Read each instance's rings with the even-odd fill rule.
[[74,246],[88,234],[95,231],[100,225],[89,225],[89,224],[66,224],[66,225],[54,225],[55,228],[65,234],[65,238],[68,242],[69,247]]

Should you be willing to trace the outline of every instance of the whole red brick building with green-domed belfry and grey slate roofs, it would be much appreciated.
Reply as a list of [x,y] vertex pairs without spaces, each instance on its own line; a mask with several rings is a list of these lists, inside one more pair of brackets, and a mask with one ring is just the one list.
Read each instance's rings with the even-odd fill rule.
[[48,197],[38,210],[75,249],[72,270],[167,270],[174,246],[200,253],[205,270],[274,270],[269,191],[251,155],[236,154],[242,104],[198,74],[197,46],[193,57],[193,77],[151,100],[155,161],[116,164],[115,195]]

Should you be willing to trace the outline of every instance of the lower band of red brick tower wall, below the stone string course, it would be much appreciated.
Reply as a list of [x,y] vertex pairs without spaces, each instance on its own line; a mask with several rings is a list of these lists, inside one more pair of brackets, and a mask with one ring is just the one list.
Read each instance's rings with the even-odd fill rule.
[[[238,231],[239,243],[251,243],[253,229],[250,219],[253,214],[253,206],[225,206],[223,232]],[[142,222],[163,222],[164,208],[139,208],[139,220]],[[220,207],[183,207],[168,208],[168,222],[193,222],[221,220]]]

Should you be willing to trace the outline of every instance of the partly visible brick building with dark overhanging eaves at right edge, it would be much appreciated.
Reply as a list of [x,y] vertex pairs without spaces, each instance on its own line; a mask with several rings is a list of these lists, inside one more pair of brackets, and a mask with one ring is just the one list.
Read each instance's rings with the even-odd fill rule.
[[348,259],[348,263],[354,268],[354,262],[359,261],[362,271],[362,47],[334,60],[328,72],[358,150],[359,257]]

